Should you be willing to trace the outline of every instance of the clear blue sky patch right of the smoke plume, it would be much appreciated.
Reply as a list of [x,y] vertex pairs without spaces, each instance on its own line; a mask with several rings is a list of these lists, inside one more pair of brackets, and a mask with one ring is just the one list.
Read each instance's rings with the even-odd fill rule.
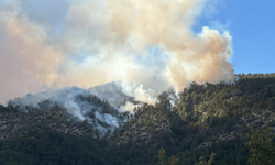
[[274,0],[221,0],[213,14],[197,18],[199,23],[194,30],[205,25],[229,30],[234,52],[231,62],[237,74],[274,73]]

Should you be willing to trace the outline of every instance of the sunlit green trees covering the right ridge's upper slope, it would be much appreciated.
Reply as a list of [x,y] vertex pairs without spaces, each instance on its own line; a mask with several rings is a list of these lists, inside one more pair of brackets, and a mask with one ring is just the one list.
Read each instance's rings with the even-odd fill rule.
[[202,128],[219,124],[219,120],[240,118],[261,109],[275,111],[275,74],[238,75],[235,84],[190,84],[175,105],[186,123]]

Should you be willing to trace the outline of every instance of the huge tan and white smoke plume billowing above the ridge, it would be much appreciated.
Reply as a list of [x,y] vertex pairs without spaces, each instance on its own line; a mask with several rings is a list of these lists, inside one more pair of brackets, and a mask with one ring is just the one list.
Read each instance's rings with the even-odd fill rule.
[[208,2],[0,1],[0,102],[109,81],[121,82],[136,100],[154,102],[169,87],[233,81],[230,33],[193,32]]

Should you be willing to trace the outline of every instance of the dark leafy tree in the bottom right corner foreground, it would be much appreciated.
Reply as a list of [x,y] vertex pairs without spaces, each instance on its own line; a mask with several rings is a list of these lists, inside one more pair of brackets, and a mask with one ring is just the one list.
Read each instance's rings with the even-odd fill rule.
[[266,125],[261,130],[254,131],[250,128],[249,142],[245,145],[250,150],[251,165],[273,165],[275,163],[274,135],[271,128]]

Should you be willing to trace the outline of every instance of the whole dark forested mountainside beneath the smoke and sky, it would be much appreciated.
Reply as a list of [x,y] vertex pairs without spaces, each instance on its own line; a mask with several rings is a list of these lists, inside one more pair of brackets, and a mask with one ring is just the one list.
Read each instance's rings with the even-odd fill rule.
[[[275,74],[238,75],[238,77],[239,81],[231,84],[193,82],[179,92],[178,97],[175,97],[172,90],[165,91],[158,96],[155,105],[144,103],[134,109],[134,114],[120,113],[107,101],[96,99],[96,96],[76,95],[78,97],[73,99],[75,102],[82,101],[90,102],[94,107],[98,106],[98,109],[82,111],[86,105],[79,103],[84,112],[80,114],[95,119],[91,120],[94,122],[76,118],[74,113],[67,111],[66,107],[63,107],[65,102],[57,102],[51,108],[46,106],[47,103],[41,102],[41,110],[37,107],[30,109],[20,105],[0,107],[0,135],[2,138],[0,148],[6,155],[10,153],[10,156],[20,163],[11,152],[21,153],[24,147],[19,150],[10,142],[40,140],[41,133],[38,132],[44,132],[44,130],[47,132],[50,129],[55,132],[53,134],[59,136],[61,141],[68,143],[68,145],[56,145],[56,151],[62,151],[64,145],[70,145],[66,136],[72,136],[72,141],[82,143],[90,141],[98,150],[95,150],[94,152],[98,153],[94,154],[101,156],[98,160],[101,164],[155,164],[158,150],[163,147],[167,153],[166,164],[168,164],[169,156],[176,155],[182,164],[194,165],[199,156],[208,157],[211,152],[215,152],[217,154],[215,165],[249,165],[249,151],[244,146],[249,127],[257,130],[263,125],[270,125],[275,132]],[[106,91],[105,97],[108,92]],[[116,117],[117,123],[120,123],[118,129],[112,130],[112,124],[103,122],[106,120],[99,120],[96,111],[100,111],[103,117],[105,114]],[[98,124],[110,131],[106,131],[103,136],[100,135]],[[28,133],[35,132],[35,130],[38,131]],[[51,140],[41,139],[35,143],[44,145],[48,141]],[[89,145],[85,147],[82,143],[82,150],[89,151]],[[75,146],[81,148],[80,143],[79,145],[75,143]],[[33,150],[36,148],[33,147]],[[70,151],[70,148],[67,150]],[[29,156],[31,155],[43,156],[43,154],[29,152]],[[51,162],[47,155],[50,153],[44,153],[44,161]],[[62,162],[57,157],[56,160]],[[84,155],[74,158],[74,163],[81,161],[84,164],[89,164],[92,160]]]

